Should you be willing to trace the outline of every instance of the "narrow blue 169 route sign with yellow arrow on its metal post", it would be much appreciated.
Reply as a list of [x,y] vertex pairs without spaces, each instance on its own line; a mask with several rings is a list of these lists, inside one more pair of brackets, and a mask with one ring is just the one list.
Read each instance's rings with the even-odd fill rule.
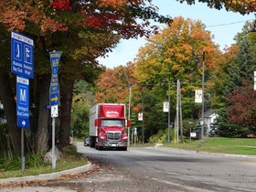
[[56,168],[55,158],[55,118],[58,117],[58,105],[59,105],[59,79],[58,79],[58,67],[61,52],[50,52],[50,63],[51,63],[51,80],[49,87],[49,105],[51,106],[51,117],[52,117],[52,168]]

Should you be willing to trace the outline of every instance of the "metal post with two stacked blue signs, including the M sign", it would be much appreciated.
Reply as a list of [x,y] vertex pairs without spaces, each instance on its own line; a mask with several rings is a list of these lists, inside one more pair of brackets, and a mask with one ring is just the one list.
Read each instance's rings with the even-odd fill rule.
[[16,115],[17,127],[21,128],[22,172],[25,171],[24,128],[29,128],[29,80],[34,78],[34,40],[30,37],[11,33],[11,70],[16,73]]

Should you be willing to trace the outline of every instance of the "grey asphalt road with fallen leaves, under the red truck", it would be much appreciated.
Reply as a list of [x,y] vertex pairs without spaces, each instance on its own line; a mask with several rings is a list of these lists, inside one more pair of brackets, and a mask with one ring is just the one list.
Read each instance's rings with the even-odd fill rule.
[[87,177],[19,191],[255,191],[256,156],[213,155],[171,148],[128,151],[84,147],[78,151],[99,165]]

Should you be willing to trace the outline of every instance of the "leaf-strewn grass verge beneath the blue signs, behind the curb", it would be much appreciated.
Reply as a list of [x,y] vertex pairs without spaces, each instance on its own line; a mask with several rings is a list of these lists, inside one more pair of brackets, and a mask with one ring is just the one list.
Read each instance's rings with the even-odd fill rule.
[[87,165],[88,161],[82,155],[78,154],[75,146],[68,146],[63,149],[64,153],[61,155],[59,161],[56,162],[56,169],[52,165],[41,165],[37,168],[26,168],[25,172],[22,170],[1,171],[0,178],[16,177],[16,176],[37,176],[40,174],[48,174],[59,172],[70,168],[75,168],[80,165]]

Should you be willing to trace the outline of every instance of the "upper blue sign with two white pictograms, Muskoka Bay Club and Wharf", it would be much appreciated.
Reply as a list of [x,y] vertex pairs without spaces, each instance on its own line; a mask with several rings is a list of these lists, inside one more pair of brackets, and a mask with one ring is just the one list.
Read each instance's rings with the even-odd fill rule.
[[12,31],[12,65],[13,73],[34,77],[34,41],[32,38]]

